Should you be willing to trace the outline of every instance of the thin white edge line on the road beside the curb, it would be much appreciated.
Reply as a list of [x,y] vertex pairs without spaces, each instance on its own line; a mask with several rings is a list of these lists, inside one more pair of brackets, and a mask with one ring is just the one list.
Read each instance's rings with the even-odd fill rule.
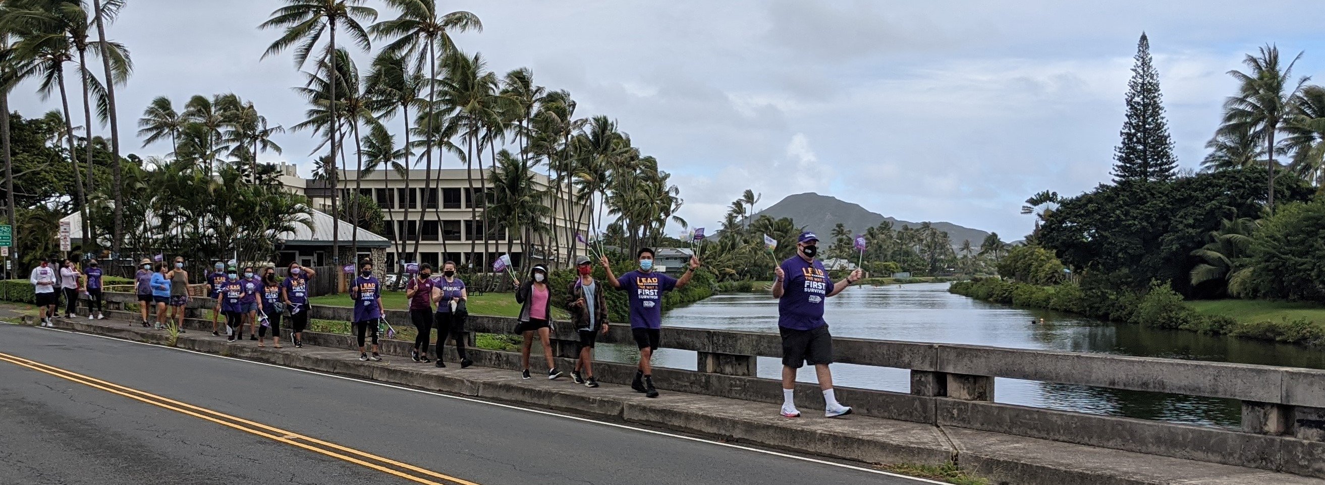
[[184,352],[189,352],[189,354],[215,356],[215,358],[221,358],[221,359],[228,359],[228,360],[236,360],[236,362],[246,362],[246,363],[250,363],[250,364],[284,368],[284,370],[290,370],[290,371],[297,371],[297,372],[321,375],[321,376],[326,376],[326,378],[352,380],[352,382],[364,383],[364,384],[382,386],[382,387],[390,387],[390,388],[396,388],[396,390],[401,390],[401,391],[411,391],[411,392],[420,392],[420,394],[427,394],[427,395],[433,395],[433,396],[440,396],[440,398],[447,398],[447,399],[457,399],[457,400],[464,400],[464,402],[470,402],[470,403],[496,405],[496,407],[502,407],[502,408],[507,408],[507,409],[518,409],[518,411],[525,411],[525,412],[534,412],[534,413],[539,413],[539,415],[545,415],[545,416],[555,416],[555,417],[571,419],[571,420],[576,420],[576,421],[594,423],[594,424],[608,425],[608,427],[615,427],[615,428],[621,428],[621,429],[637,431],[637,432],[641,432],[641,433],[668,436],[668,437],[674,437],[674,439],[680,439],[680,440],[697,441],[697,443],[708,443],[708,444],[713,444],[713,445],[719,445],[719,447],[726,447],[726,448],[735,448],[735,449],[742,449],[742,451],[755,452],[755,453],[763,453],[763,455],[771,455],[771,456],[778,456],[778,457],[783,457],[783,458],[792,458],[792,460],[799,460],[799,461],[808,461],[808,462],[820,464],[820,465],[829,465],[829,466],[845,468],[845,469],[851,469],[851,470],[865,472],[865,473],[874,473],[874,474],[882,474],[882,476],[894,477],[894,478],[902,478],[902,480],[913,480],[913,481],[917,481],[917,482],[921,482],[921,484],[950,485],[950,484],[942,482],[942,481],[934,481],[934,480],[929,480],[929,478],[917,478],[917,477],[910,477],[910,476],[905,476],[905,474],[900,474],[900,473],[876,470],[876,469],[872,469],[872,468],[864,468],[864,466],[856,466],[856,465],[847,465],[847,464],[840,464],[840,462],[833,462],[833,461],[827,461],[827,460],[810,458],[810,457],[804,457],[804,456],[787,455],[787,453],[774,452],[774,451],[768,451],[768,449],[742,447],[742,445],[737,445],[737,444],[731,444],[731,443],[722,443],[722,441],[706,440],[706,439],[702,439],[702,437],[674,435],[674,433],[668,433],[668,432],[656,431],[656,429],[636,428],[636,427],[631,427],[631,425],[625,425],[625,424],[599,421],[599,420],[594,420],[594,419],[588,419],[588,417],[562,415],[562,413],[556,413],[556,412],[551,412],[551,411],[531,409],[531,408],[523,408],[523,407],[519,407],[519,405],[493,403],[493,402],[486,402],[486,400],[482,400],[482,399],[473,399],[473,398],[465,398],[465,396],[453,396],[453,395],[449,395],[449,394],[416,390],[416,388],[412,388],[412,387],[388,384],[388,383],[382,383],[382,382],[375,382],[375,380],[364,380],[364,379],[347,378],[347,376],[343,376],[343,375],[310,371],[310,370],[306,370],[306,368],[286,367],[286,366],[278,366],[278,364],[266,363],[266,362],[246,360],[246,359],[240,359],[240,358],[233,358],[233,356],[208,354],[208,352],[189,350],[189,349],[166,347],[166,346],[159,346],[159,345],[155,345],[155,343],[129,341],[129,339],[115,338],[115,337],[107,337],[107,335],[85,334],[85,333],[81,333],[81,331],[72,331],[72,330],[64,330],[64,329],[52,329],[52,327],[37,327],[37,329],[53,330],[53,331],[62,331],[62,333],[74,334],[74,335],[86,335],[86,337],[105,338],[105,339],[111,339],[111,341],[115,341],[115,342],[136,343],[136,345],[150,346],[150,347],[155,347],[155,349],[179,350],[179,351],[184,351]]

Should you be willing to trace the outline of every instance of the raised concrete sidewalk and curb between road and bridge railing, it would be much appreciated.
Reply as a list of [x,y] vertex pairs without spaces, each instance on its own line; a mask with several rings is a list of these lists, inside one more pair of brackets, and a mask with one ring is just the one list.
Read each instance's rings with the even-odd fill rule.
[[[164,331],[129,326],[115,319],[57,318],[54,323],[60,329],[163,346],[170,339]],[[668,392],[664,399],[647,399],[619,384],[604,383],[590,391],[568,386],[566,380],[521,380],[514,372],[501,368],[476,366],[461,371],[457,366],[436,368],[408,360],[395,362],[398,358],[388,352],[383,352],[388,362],[364,363],[343,347],[309,345],[309,341],[339,337],[306,337],[305,349],[272,349],[242,341],[228,343],[195,330],[179,335],[176,347],[865,464],[938,465],[955,461],[994,484],[1325,485],[1321,478],[878,417],[822,419],[807,412],[807,417],[788,420],[776,415],[775,405],[765,403],[681,392]],[[384,346],[383,350],[387,349]]]

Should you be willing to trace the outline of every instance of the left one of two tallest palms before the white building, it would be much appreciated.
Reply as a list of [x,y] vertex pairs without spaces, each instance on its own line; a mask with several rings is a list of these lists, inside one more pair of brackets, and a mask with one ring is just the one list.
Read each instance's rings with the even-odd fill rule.
[[[303,62],[307,61],[309,54],[317,48],[318,41],[321,41],[322,33],[326,32],[327,48],[323,53],[323,58],[329,62],[326,76],[327,78],[331,78],[335,76],[334,73],[339,72],[335,56],[337,28],[343,27],[346,33],[350,34],[351,41],[358,44],[360,49],[367,50],[371,45],[368,41],[368,33],[359,23],[371,23],[376,20],[378,11],[363,7],[363,0],[285,0],[285,7],[273,11],[270,19],[258,25],[261,29],[285,29],[285,33],[266,48],[266,52],[262,53],[262,58],[280,54],[282,50],[298,44],[299,46],[294,49],[294,66],[295,69],[302,68]],[[326,99],[339,99],[335,93],[337,82],[329,82],[327,86],[330,87],[330,93]],[[337,136],[339,136],[341,131],[337,126],[335,110],[330,110],[330,127],[326,133],[327,142],[331,143],[331,160],[334,166],[339,148]],[[337,192],[339,191],[337,183],[339,180],[339,175],[331,178],[333,213],[337,213]],[[355,233],[358,233],[358,231],[355,231]],[[331,261],[335,265],[339,265],[341,262],[341,217],[334,217],[331,220]]]

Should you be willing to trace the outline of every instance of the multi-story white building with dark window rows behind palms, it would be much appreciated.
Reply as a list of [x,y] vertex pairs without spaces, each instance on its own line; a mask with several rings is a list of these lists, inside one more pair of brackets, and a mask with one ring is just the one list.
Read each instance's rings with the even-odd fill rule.
[[[342,200],[355,189],[356,174],[352,170],[342,171],[339,187]],[[395,171],[376,170],[359,182],[360,193],[372,197],[382,208],[386,221],[383,236],[392,241],[391,248],[387,248],[386,264],[388,266],[394,268],[396,262],[415,261],[413,250],[417,236],[417,262],[428,262],[433,268],[444,261],[454,261],[461,266],[488,268],[497,257],[507,253],[507,245],[514,264],[521,264],[527,256],[537,262],[555,268],[563,266],[571,256],[570,245],[575,240],[576,232],[588,236],[587,211],[580,211],[579,205],[575,205],[571,211],[572,216],[566,217],[562,209],[566,204],[572,203],[572,196],[568,193],[555,203],[558,209],[554,211],[555,239],[560,241],[558,244],[560,248],[554,248],[554,239],[547,235],[534,237],[529,244],[530,254],[525,254],[525,244],[521,241],[522,235],[518,228],[507,229],[494,225],[484,235],[482,212],[476,212],[474,208],[474,204],[481,207],[482,201],[474,195],[482,191],[480,180],[488,176],[488,170],[472,172],[474,193],[470,193],[469,174],[464,168],[433,170],[431,180],[427,180],[427,188],[424,187],[427,174],[423,170],[411,170],[408,180]],[[302,186],[301,193],[310,199],[313,208],[331,212],[331,189],[326,182],[298,179],[297,174],[282,170],[281,183],[295,192],[299,192],[297,187]],[[547,176],[539,174],[535,174],[534,183],[541,188],[549,186]],[[555,195],[549,192],[545,204],[553,207],[554,197]],[[545,223],[554,225],[551,217],[545,219]],[[348,242],[342,241],[342,244],[347,245]],[[366,250],[360,249],[360,253],[366,253]],[[575,254],[587,254],[587,249],[583,245],[576,245]],[[359,258],[366,256],[359,254]]]

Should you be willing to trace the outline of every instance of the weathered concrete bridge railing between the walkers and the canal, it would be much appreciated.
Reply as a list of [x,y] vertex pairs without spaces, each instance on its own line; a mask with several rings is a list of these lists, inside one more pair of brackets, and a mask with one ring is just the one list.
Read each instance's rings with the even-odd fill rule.
[[[127,294],[107,294],[107,299],[117,306],[134,302]],[[192,306],[196,315],[211,302]],[[310,317],[348,321],[351,313],[350,307],[313,306]],[[388,310],[387,318],[398,327],[409,322],[403,310]],[[470,317],[469,341],[474,333],[513,333],[515,325],[514,318]],[[574,331],[558,325],[553,333],[554,351],[567,367],[576,355]],[[331,334],[305,341],[352,345],[350,337]],[[627,325],[613,325],[599,342],[633,345]],[[388,341],[383,352],[408,355],[411,346]],[[697,352],[697,371],[655,368],[662,390],[782,402],[780,383],[757,376],[759,356],[782,355],[776,334],[666,327],[661,346]],[[861,338],[833,338],[833,347],[840,363],[910,371],[910,392],[839,387],[839,400],[861,415],[1325,477],[1325,370]],[[456,359],[450,350],[447,358]],[[472,350],[470,358],[478,366],[519,368],[515,352]],[[632,364],[594,366],[599,380],[610,383],[628,383],[635,374]],[[1230,431],[1002,404],[994,402],[995,378],[1238,399],[1243,425]],[[807,407],[823,402],[818,386],[807,383],[798,384],[796,399]]]

